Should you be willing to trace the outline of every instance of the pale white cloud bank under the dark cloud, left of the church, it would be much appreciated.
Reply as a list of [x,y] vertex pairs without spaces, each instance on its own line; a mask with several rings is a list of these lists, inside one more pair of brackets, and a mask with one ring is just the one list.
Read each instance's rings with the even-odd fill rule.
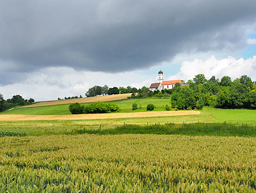
[[[65,96],[85,96],[88,88],[107,84],[113,86],[149,86],[153,79],[148,75],[142,75],[142,71],[105,73],[75,71],[69,67],[50,67],[31,73],[27,80],[0,86],[0,93],[4,98],[11,98],[13,95],[21,95],[23,98],[34,98],[36,101],[56,100]],[[145,81],[146,80],[146,81]]]

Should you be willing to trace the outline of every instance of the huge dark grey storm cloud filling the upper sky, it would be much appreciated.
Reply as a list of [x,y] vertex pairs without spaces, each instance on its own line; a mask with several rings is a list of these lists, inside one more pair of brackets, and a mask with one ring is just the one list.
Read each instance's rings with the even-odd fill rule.
[[1,1],[1,83],[19,79],[8,80],[10,71],[120,72],[184,52],[235,50],[255,26],[255,7],[254,0]]

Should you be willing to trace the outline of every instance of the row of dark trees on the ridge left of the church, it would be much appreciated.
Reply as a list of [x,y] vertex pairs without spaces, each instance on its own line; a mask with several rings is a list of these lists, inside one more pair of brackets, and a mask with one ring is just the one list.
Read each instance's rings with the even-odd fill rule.
[[101,96],[101,95],[116,95],[116,94],[125,94],[125,93],[136,93],[138,89],[135,87],[127,86],[127,87],[112,87],[109,88],[108,85],[104,86],[97,86],[95,85],[92,88],[89,88],[88,91],[85,93],[87,97],[93,96]]

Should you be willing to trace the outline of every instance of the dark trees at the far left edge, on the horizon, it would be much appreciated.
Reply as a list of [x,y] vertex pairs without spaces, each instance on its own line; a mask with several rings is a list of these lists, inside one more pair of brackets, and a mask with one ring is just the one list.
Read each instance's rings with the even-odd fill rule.
[[35,100],[33,98],[24,99],[20,95],[14,95],[12,98],[5,100],[4,96],[0,93],[0,111],[4,111],[15,106],[30,105],[34,101]]

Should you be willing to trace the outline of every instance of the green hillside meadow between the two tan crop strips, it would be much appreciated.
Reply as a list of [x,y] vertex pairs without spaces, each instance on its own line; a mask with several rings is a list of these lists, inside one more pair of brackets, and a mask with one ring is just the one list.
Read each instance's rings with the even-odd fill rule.
[[[146,98],[146,99],[123,99],[110,101],[110,103],[117,104],[120,107],[119,112],[144,112],[148,104],[152,103],[156,105],[153,111],[165,110],[165,105],[171,105],[170,98]],[[136,103],[139,108],[132,110],[132,104]],[[91,103],[84,103],[83,105],[89,105]],[[69,104],[64,105],[52,105],[43,107],[29,107],[29,108],[14,108],[9,111],[1,112],[0,114],[71,114],[69,111]]]

